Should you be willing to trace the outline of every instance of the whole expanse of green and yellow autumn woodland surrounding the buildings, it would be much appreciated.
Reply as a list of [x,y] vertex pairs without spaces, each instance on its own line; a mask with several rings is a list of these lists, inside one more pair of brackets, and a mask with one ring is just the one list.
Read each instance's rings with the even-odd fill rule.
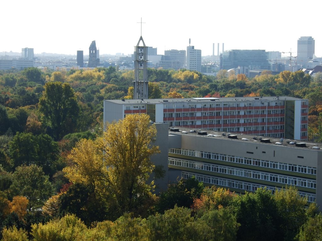
[[[155,195],[155,129],[131,135],[148,117],[102,129],[103,100],[132,98],[133,80],[115,67],[0,72],[2,240],[322,240],[320,212],[292,186],[239,195],[192,178]],[[308,138],[322,140],[322,73],[148,69],[148,80],[149,98],[306,98]],[[115,126],[130,136],[113,139]]]

